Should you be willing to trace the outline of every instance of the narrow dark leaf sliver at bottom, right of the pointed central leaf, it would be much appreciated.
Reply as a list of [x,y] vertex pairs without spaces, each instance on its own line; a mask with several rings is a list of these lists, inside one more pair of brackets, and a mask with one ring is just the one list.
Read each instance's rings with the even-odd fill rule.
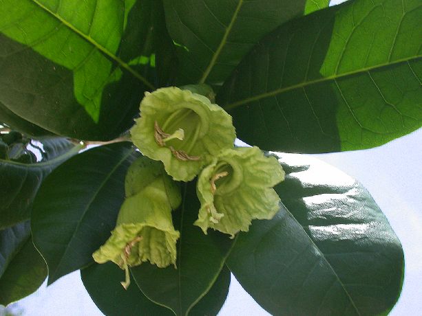
[[211,316],[217,315],[226,302],[227,294],[229,294],[230,286],[230,270],[224,265],[220,275],[209,290],[207,295],[193,306],[189,312],[189,316]]

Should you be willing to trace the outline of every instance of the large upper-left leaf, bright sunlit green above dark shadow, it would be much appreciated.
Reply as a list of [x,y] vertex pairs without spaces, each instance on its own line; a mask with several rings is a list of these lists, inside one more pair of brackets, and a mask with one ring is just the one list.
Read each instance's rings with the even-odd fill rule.
[[116,137],[154,89],[156,9],[160,1],[1,1],[0,102],[53,133]]

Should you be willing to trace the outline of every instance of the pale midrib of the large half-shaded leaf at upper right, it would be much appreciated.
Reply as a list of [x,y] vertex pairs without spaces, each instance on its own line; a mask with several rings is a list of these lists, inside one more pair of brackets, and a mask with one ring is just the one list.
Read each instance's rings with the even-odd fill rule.
[[383,68],[383,67],[390,67],[390,66],[393,66],[393,65],[401,64],[401,63],[407,63],[407,62],[409,62],[409,60],[418,60],[418,59],[422,59],[422,56],[420,56],[420,55],[410,56],[410,57],[407,57],[407,58],[401,58],[401,59],[398,59],[398,60],[394,60],[394,62],[392,62],[392,63],[384,63],[384,64],[379,64],[379,65],[374,65],[374,66],[371,66],[371,67],[357,69],[355,71],[349,71],[349,72],[346,72],[344,74],[339,74],[339,75],[334,74],[334,75],[331,75],[331,76],[328,76],[328,77],[323,77],[323,78],[319,78],[319,79],[315,79],[315,80],[299,82],[298,84],[293,84],[293,85],[288,86],[288,87],[276,89],[276,90],[273,90],[273,91],[268,91],[266,93],[261,93],[261,94],[255,95],[253,97],[246,98],[246,99],[243,99],[243,100],[239,100],[237,102],[233,102],[231,104],[228,104],[228,105],[222,106],[222,107],[226,111],[228,111],[228,110],[235,109],[238,106],[241,106],[241,105],[253,102],[253,101],[272,97],[274,95],[278,95],[278,94],[281,94],[281,93],[284,93],[284,92],[287,92],[287,91],[291,91],[291,90],[294,90],[294,89],[307,87],[307,86],[312,85],[312,84],[317,84],[317,83],[326,82],[326,81],[335,81],[337,79],[346,78],[346,77],[349,77],[349,76],[355,76],[357,74],[364,74],[364,73],[371,71],[371,70],[374,70],[374,69],[380,69],[380,68]]

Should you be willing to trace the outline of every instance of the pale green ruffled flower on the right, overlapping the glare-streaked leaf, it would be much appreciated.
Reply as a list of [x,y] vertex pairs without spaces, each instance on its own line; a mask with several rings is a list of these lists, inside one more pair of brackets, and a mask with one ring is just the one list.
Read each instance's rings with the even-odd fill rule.
[[201,207],[194,225],[204,234],[209,228],[232,237],[247,232],[253,219],[277,213],[280,199],[273,186],[283,180],[277,159],[264,156],[260,148],[223,150],[198,177]]

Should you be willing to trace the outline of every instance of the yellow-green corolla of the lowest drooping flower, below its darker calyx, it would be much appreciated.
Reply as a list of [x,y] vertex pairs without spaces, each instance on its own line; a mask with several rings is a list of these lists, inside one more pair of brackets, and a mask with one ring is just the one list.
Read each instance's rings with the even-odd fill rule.
[[[98,263],[112,261],[122,269],[149,261],[158,267],[176,265],[176,240],[171,221],[171,207],[154,186],[131,196],[123,203],[112,236],[94,254]],[[135,242],[134,242],[135,241]],[[125,248],[131,242],[129,256]]]

